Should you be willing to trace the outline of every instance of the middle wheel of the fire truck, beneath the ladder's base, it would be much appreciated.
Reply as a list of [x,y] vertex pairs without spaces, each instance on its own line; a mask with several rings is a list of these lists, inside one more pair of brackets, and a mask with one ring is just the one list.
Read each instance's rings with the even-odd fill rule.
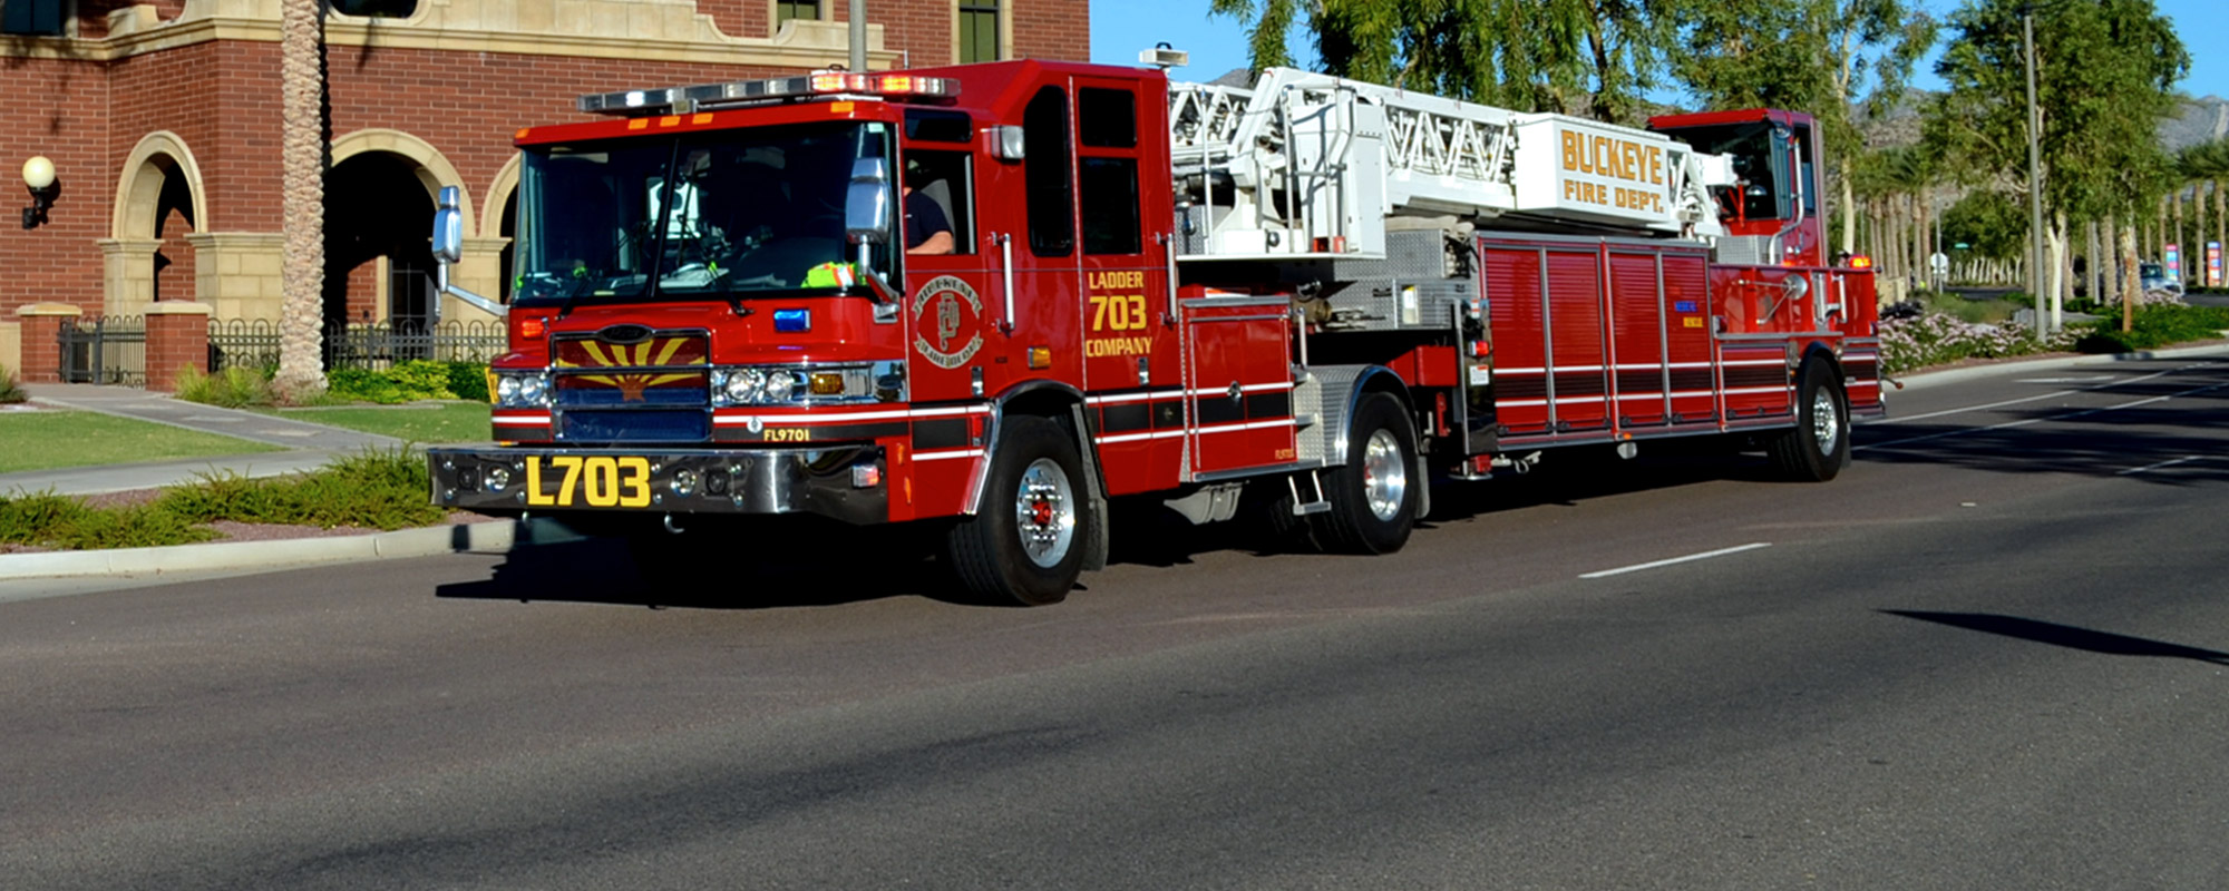
[[1415,468],[1415,428],[1400,401],[1362,396],[1346,428],[1346,463],[1324,470],[1331,510],[1311,515],[1315,544],[1349,555],[1391,555],[1409,544],[1424,479]]

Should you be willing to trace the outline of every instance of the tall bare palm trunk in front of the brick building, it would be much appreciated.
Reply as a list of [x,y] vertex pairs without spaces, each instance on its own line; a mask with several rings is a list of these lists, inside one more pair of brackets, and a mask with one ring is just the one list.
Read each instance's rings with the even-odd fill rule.
[[288,401],[325,390],[319,345],[325,327],[325,134],[319,107],[323,51],[321,0],[283,0],[279,7],[279,91],[285,229],[279,310],[279,376]]

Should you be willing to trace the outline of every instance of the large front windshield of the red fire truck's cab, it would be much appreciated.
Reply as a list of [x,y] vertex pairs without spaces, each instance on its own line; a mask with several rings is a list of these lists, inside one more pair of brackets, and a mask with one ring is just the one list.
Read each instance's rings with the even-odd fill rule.
[[[535,147],[519,169],[515,303],[751,298],[858,283],[856,158],[880,123]],[[896,205],[892,200],[892,205]],[[889,247],[865,263],[889,276]]]

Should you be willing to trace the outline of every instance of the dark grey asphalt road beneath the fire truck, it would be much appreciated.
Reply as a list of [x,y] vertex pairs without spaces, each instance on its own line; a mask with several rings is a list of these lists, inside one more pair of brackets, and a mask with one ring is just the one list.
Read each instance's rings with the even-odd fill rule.
[[1892,399],[1036,610],[831,530],[0,604],[0,884],[2229,884],[2229,359]]

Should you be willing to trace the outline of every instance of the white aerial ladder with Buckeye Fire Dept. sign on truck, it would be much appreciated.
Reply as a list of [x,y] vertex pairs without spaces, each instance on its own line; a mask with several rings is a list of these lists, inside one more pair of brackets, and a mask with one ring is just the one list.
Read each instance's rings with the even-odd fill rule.
[[1181,261],[1373,261],[1386,232],[1714,238],[1725,156],[1645,129],[1266,69],[1172,82]]

